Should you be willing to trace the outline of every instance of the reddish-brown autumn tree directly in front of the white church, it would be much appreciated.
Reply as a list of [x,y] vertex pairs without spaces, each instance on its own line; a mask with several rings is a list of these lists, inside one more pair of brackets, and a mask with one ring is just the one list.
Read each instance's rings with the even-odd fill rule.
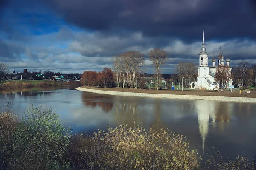
[[223,88],[231,79],[230,67],[226,65],[218,65],[215,73],[215,82],[218,82]]

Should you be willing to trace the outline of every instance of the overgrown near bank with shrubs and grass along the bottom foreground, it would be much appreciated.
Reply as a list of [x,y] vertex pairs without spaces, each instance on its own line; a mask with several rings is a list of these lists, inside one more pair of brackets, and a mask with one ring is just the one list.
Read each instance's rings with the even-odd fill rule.
[[[245,156],[224,161],[217,150],[203,159],[177,133],[119,125],[93,136],[71,135],[52,109],[29,108],[21,120],[0,114],[0,169],[251,169]],[[205,161],[203,161],[205,160]]]

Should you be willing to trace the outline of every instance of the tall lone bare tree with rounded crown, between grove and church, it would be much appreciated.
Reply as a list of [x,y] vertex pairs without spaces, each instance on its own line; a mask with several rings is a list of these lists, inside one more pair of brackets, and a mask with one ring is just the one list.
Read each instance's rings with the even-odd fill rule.
[[150,53],[148,54],[148,57],[150,59],[150,61],[152,61],[152,65],[155,66],[155,70],[156,70],[156,86],[157,86],[157,90],[159,89],[159,75],[160,75],[160,67],[161,65],[163,65],[165,62],[167,62],[168,60],[168,54],[166,51],[161,50],[161,49],[154,49],[151,50]]

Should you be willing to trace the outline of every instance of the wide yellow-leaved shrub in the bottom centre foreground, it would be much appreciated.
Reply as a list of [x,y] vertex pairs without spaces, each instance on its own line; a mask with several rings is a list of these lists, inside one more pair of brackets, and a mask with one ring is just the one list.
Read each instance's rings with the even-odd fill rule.
[[[134,125],[119,125],[108,132],[83,136],[76,153],[81,154],[79,166],[90,169],[197,169],[196,151],[189,151],[189,141],[177,133],[157,133]],[[80,140],[77,137],[76,140]],[[77,157],[77,156],[76,156]]]

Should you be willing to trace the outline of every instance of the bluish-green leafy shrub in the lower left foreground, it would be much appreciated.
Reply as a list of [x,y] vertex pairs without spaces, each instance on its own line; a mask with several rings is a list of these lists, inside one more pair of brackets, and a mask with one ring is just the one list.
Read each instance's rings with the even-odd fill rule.
[[58,118],[52,109],[29,108],[12,136],[13,169],[59,167],[70,143],[70,130]]

